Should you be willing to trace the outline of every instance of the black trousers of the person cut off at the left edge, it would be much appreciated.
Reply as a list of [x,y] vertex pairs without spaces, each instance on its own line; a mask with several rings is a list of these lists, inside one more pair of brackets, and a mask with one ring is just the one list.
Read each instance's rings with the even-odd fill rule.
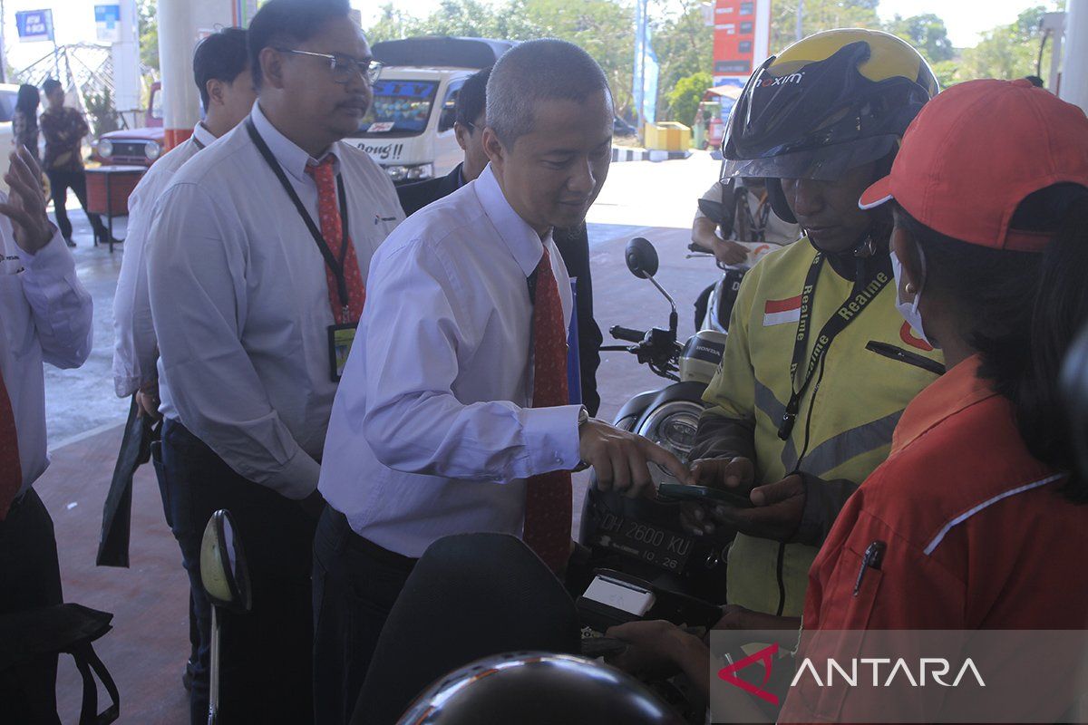
[[[32,488],[0,522],[0,614],[63,601],[53,520]],[[57,655],[0,672],[0,721],[60,725]]]

